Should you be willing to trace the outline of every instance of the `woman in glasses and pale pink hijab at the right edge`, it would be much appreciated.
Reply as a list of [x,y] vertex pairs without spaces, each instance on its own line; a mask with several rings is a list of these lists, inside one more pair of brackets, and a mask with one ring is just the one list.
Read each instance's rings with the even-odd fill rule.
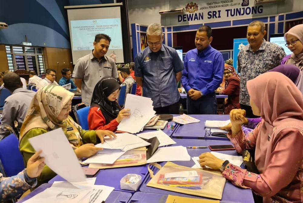
[[286,46],[292,52],[285,56],[281,64],[290,64],[297,66],[303,71],[303,25],[296,25],[289,29],[284,35]]

